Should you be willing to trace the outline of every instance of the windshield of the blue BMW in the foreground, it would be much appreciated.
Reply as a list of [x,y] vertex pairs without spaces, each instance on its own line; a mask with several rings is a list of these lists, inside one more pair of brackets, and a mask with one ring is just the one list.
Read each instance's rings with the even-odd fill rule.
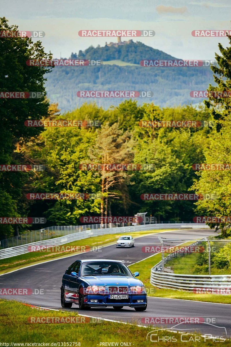
[[117,262],[86,262],[81,266],[80,276],[131,276],[132,273],[123,263]]

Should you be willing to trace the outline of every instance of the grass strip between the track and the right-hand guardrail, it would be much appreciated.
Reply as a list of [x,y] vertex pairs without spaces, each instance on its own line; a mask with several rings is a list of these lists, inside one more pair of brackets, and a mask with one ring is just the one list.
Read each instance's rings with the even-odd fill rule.
[[[165,256],[167,253],[165,254]],[[161,261],[161,254],[153,255],[152,257],[142,260],[136,264],[130,265],[129,269],[134,273],[140,272],[139,279],[144,283],[148,296],[172,298],[172,299],[186,299],[195,301],[207,301],[211,303],[231,304],[231,295],[219,294],[196,294],[183,290],[164,289],[153,287],[150,283],[151,268]]]

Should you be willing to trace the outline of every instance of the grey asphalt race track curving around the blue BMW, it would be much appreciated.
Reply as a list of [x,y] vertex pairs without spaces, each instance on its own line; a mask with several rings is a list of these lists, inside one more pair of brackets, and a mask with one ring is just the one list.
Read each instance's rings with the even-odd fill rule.
[[[14,299],[16,301],[26,302],[36,306],[47,308],[76,311],[88,316],[100,317],[116,321],[141,322],[145,317],[201,317],[208,319],[208,323],[202,324],[162,324],[159,329],[165,327],[171,330],[181,330],[195,332],[200,334],[211,334],[213,336],[231,336],[231,305],[213,304],[203,302],[193,302],[186,300],[167,299],[148,297],[148,307],[144,312],[136,312],[134,308],[123,308],[121,311],[115,311],[113,308],[91,308],[91,310],[79,310],[77,305],[72,308],[63,309],[60,304],[60,286],[63,273],[66,268],[77,259],[115,259],[122,260],[126,265],[133,264],[148,256],[149,253],[143,253],[141,248],[145,245],[160,245],[159,234],[142,236],[135,240],[133,248],[116,248],[115,245],[107,246],[101,249],[101,252],[87,252],[77,256],[58,259],[30,266],[9,274],[0,276],[0,288],[36,288],[43,289],[43,295],[1,295],[1,298]],[[214,232],[206,229],[182,229],[161,233],[160,236],[166,238],[203,238],[214,235]],[[84,240],[83,240],[84,244]],[[154,263],[153,263],[154,265]],[[51,284],[52,283],[52,284]],[[215,318],[215,322],[211,319]],[[213,325],[211,325],[213,324]],[[217,327],[215,327],[216,325]],[[157,324],[152,325],[157,327]],[[150,328],[149,331],[152,329]]]

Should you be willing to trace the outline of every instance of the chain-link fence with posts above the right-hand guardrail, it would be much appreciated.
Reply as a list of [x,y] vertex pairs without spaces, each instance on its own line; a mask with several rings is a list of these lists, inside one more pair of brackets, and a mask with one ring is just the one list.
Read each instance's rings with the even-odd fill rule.
[[[165,239],[159,271],[178,274],[231,274],[231,239]],[[178,245],[178,246],[177,246]]]

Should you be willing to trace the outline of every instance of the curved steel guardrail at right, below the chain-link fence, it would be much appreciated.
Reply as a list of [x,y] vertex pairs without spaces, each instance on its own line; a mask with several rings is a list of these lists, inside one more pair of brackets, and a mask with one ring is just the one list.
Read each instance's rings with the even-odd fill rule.
[[151,269],[150,283],[157,288],[193,291],[195,288],[231,288],[231,275],[185,275]]

